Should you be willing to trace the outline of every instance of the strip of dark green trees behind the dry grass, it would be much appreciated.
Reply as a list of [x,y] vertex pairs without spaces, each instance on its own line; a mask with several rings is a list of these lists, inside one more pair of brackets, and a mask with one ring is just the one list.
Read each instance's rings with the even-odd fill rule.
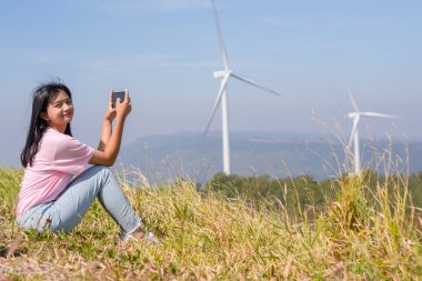
[[[318,208],[335,200],[348,177],[353,175],[344,174],[318,181],[307,174],[278,179],[268,174],[240,177],[218,173],[205,183],[205,192],[217,192],[228,199],[241,199],[254,205],[267,202],[288,208],[298,204]],[[365,185],[364,192],[375,194],[378,188],[386,188],[392,201],[395,192],[409,192],[413,205],[422,208],[422,172],[411,175],[381,175],[374,170],[366,170],[360,177],[360,182]]]

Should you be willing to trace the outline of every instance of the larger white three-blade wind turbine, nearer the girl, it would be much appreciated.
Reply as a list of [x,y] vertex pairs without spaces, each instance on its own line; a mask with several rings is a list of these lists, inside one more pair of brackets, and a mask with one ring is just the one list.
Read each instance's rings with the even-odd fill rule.
[[212,10],[213,10],[213,13],[214,13],[214,19],[215,19],[215,24],[217,24],[217,32],[218,32],[218,37],[219,37],[219,46],[220,46],[220,52],[221,52],[221,56],[222,56],[222,61],[223,61],[223,67],[224,69],[223,70],[220,70],[220,71],[214,71],[214,78],[218,78],[218,79],[221,79],[221,82],[220,82],[220,90],[217,94],[217,99],[215,99],[215,102],[214,102],[214,107],[212,109],[212,113],[211,113],[211,117],[210,117],[210,120],[207,124],[207,128],[205,128],[205,131],[204,131],[204,134],[207,134],[210,126],[211,126],[211,122],[212,122],[212,119],[215,114],[215,111],[219,107],[219,104],[221,103],[221,116],[222,116],[222,143],[223,143],[223,172],[225,174],[230,174],[230,143],[229,143],[229,114],[228,114],[228,98],[227,98],[227,84],[228,84],[228,81],[229,81],[229,78],[235,78],[240,81],[243,81],[245,83],[249,83],[249,84],[252,84],[257,88],[260,88],[264,91],[268,91],[268,92],[271,92],[273,94],[277,94],[279,97],[281,97],[280,93],[278,93],[277,91],[273,91],[271,89],[268,89],[263,86],[260,86],[258,84],[257,82],[252,81],[251,79],[249,78],[245,78],[243,76],[240,76],[235,72],[233,72],[233,70],[231,70],[230,68],[230,64],[229,64],[229,59],[228,59],[228,56],[227,56],[227,50],[225,50],[225,44],[224,44],[224,40],[223,40],[223,34],[222,34],[222,31],[221,31],[221,27],[220,27],[220,21],[219,21],[219,18],[217,16],[217,10],[215,10],[215,6],[214,6],[214,1],[211,0],[211,3],[212,3]]

